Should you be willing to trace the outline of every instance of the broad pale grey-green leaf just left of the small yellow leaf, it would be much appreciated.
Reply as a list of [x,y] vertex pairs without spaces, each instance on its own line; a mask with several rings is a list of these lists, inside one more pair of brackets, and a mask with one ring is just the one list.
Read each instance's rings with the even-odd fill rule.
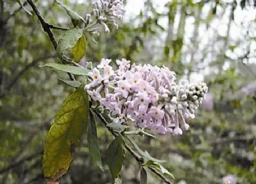
[[57,46],[57,53],[59,57],[62,57],[63,54],[67,54],[69,52],[72,54],[71,49],[82,36],[83,30],[77,27],[61,32]]

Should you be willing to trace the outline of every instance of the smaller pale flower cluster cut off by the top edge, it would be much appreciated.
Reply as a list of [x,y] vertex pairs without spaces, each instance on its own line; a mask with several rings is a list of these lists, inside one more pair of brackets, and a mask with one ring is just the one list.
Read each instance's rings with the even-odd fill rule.
[[107,24],[118,28],[115,18],[122,20],[125,12],[122,0],[96,0],[93,7],[93,14],[104,27],[105,32],[110,32]]

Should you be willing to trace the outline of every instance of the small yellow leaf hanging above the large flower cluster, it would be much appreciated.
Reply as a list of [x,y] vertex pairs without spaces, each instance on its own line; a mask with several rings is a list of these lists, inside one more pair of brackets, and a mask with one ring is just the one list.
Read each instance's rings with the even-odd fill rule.
[[73,55],[74,61],[79,62],[81,58],[84,57],[86,53],[86,37],[82,35],[79,40],[75,43],[75,46],[72,48],[71,53]]

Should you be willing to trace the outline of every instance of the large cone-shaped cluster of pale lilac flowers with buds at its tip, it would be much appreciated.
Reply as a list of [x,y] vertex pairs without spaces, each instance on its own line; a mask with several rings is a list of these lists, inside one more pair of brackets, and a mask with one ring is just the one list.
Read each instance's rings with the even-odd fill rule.
[[91,82],[85,90],[91,100],[109,110],[116,123],[132,121],[134,126],[157,130],[161,134],[181,135],[187,131],[187,120],[195,117],[208,91],[205,83],[176,84],[176,74],[169,68],[150,64],[130,64],[116,60],[113,70],[110,59],[89,73]]

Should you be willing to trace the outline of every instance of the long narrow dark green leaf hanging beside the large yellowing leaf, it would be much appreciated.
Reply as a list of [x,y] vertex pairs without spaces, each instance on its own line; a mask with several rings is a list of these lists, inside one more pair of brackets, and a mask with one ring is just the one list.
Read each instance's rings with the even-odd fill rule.
[[92,114],[92,111],[90,111],[90,121],[88,123],[87,139],[89,144],[89,151],[91,153],[93,162],[96,163],[96,165],[102,171],[104,171],[104,168],[102,166],[102,161],[101,161],[101,152],[100,152],[99,143],[97,139],[95,117]]

